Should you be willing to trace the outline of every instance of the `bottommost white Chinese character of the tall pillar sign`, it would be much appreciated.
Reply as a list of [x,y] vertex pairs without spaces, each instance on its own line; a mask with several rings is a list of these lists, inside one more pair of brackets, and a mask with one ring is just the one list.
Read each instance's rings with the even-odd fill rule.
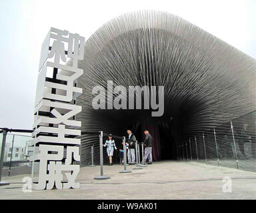
[[[40,144],[39,152],[31,158],[31,160],[39,160],[39,182],[33,184],[36,190],[43,190],[45,187],[52,189],[54,185],[57,189],[79,188],[79,183],[75,182],[79,165],[72,164],[73,161],[80,161],[78,146],[67,146],[65,164],[62,162],[64,146]],[[66,182],[63,182],[64,178],[67,179]]]

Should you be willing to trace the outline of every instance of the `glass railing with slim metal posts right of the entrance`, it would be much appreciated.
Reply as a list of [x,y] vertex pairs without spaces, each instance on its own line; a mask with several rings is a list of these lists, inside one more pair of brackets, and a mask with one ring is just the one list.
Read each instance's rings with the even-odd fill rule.
[[191,134],[178,145],[177,153],[179,160],[256,172],[256,111],[206,132]]

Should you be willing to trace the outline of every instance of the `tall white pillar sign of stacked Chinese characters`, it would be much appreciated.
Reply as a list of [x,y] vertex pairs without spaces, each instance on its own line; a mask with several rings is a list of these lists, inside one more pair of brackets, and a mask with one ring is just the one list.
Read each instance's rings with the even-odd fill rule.
[[[39,162],[39,180],[35,190],[79,188],[75,178],[79,173],[81,121],[75,115],[82,108],[76,98],[82,89],[77,79],[83,75],[78,60],[83,59],[85,39],[78,34],[51,28],[42,45],[37,94],[33,146],[38,147],[30,161]],[[33,180],[33,170],[32,170]]]

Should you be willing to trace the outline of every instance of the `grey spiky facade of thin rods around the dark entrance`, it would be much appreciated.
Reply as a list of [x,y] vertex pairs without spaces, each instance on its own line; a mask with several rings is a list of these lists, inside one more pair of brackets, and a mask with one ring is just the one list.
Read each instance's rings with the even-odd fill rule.
[[[165,12],[137,11],[105,23],[85,43],[79,67],[84,69],[78,82],[83,95],[77,99],[82,130],[123,135],[129,124],[150,119],[145,110],[94,110],[91,91],[96,85],[106,88],[107,81],[165,86],[165,114],[157,121],[183,119],[183,136],[255,110],[255,59]],[[82,142],[84,165],[98,138]]]

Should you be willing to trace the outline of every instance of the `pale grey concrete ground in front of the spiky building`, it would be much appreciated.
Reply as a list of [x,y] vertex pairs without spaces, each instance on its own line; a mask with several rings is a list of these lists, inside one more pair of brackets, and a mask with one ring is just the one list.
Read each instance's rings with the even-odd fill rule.
[[[107,180],[94,180],[99,166],[83,167],[77,177],[79,189],[23,192],[22,178],[4,177],[13,184],[0,186],[0,199],[255,199],[256,173],[198,162],[161,161],[141,170],[121,174],[121,165],[104,166]],[[223,192],[231,178],[231,192]],[[225,179],[227,180],[227,178]]]

